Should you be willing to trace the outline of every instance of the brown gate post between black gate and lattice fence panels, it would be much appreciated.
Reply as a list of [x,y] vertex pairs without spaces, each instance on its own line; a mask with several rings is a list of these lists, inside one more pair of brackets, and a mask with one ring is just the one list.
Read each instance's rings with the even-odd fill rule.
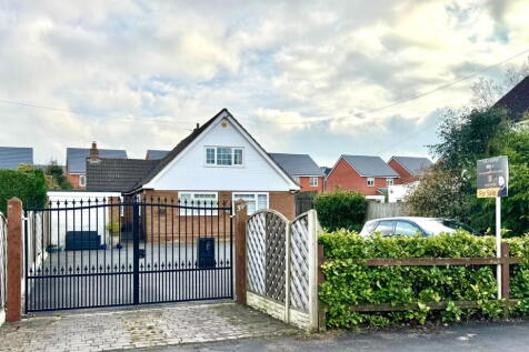
[[237,201],[236,209],[236,299],[237,303],[246,304],[246,223],[248,220],[247,204]]

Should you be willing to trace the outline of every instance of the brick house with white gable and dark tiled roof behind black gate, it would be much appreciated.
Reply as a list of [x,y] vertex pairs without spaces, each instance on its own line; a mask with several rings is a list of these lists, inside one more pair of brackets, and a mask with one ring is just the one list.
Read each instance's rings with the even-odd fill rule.
[[[138,199],[148,203],[232,204],[243,200],[248,213],[273,209],[289,219],[295,217],[295,193],[300,189],[227,109],[197,125],[160,160],[117,160],[93,154],[86,160],[86,171],[87,191],[119,191],[126,202]],[[166,239],[168,232],[152,227],[152,217],[162,217],[164,224],[179,223],[180,217],[191,217],[194,229],[202,229],[198,233],[209,231],[211,235],[216,235],[219,228],[230,227],[229,217],[214,213],[208,217],[202,210],[197,214],[186,210],[161,213],[157,207],[144,207],[141,215],[148,241],[169,239]],[[120,217],[127,222],[130,214]],[[221,224],[220,221],[228,222]],[[181,231],[197,234],[191,227]]]

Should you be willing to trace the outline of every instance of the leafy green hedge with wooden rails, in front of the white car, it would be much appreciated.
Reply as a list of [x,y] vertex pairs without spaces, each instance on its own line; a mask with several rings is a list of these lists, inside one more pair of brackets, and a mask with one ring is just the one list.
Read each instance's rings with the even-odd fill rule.
[[[319,239],[327,261],[322,265],[326,282],[320,299],[327,305],[330,328],[356,325],[386,326],[427,321],[452,322],[468,319],[492,319],[503,313],[496,299],[496,266],[366,266],[369,258],[480,258],[495,257],[492,237],[466,232],[431,238],[363,239],[340,230]],[[529,234],[507,240],[512,257],[529,258]],[[522,302],[511,308],[515,316],[529,314],[529,261],[511,266],[511,298]],[[490,301],[492,300],[492,301]],[[456,301],[477,301],[478,309],[461,310]],[[449,302],[443,311],[432,311],[426,302]],[[359,313],[355,304],[419,303],[419,309],[400,312]]]

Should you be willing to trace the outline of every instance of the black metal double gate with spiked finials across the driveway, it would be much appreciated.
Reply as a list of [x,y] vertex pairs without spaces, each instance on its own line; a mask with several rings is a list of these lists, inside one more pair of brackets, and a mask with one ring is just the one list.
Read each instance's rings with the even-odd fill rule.
[[232,210],[207,197],[24,209],[26,311],[232,299]]

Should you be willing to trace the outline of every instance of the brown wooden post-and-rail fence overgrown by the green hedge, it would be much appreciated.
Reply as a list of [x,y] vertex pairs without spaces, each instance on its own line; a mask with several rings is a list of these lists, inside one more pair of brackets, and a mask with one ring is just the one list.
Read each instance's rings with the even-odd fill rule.
[[[506,308],[509,305],[516,305],[519,300],[510,299],[510,265],[520,264],[523,258],[509,257],[509,244],[501,243],[501,258],[373,258],[366,260],[367,266],[450,266],[450,265],[501,265],[501,298],[505,300]],[[325,282],[325,275],[321,271],[321,264],[325,262],[323,245],[319,244],[318,248],[318,261],[320,263],[320,271],[318,283]],[[496,301],[496,300],[490,300]],[[476,301],[455,301],[452,302],[460,309],[477,308]],[[421,303],[427,305],[430,310],[445,310],[448,302],[426,302]],[[406,304],[391,304],[391,303],[377,303],[377,304],[355,304],[348,308],[352,312],[393,312],[393,311],[408,311],[418,310],[419,303],[406,303]],[[508,310],[506,310],[506,314]],[[325,314],[325,313],[320,313]]]

